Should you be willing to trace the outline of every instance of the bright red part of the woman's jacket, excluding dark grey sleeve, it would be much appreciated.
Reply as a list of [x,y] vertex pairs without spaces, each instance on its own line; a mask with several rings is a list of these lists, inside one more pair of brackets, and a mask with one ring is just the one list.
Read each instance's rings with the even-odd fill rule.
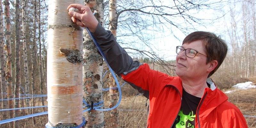
[[[148,128],[171,128],[177,117],[182,97],[180,77],[171,77],[151,70],[148,64],[121,75],[122,78],[149,91]],[[228,97],[214,83],[205,88],[196,111],[196,128],[247,128],[240,110],[228,102]]]

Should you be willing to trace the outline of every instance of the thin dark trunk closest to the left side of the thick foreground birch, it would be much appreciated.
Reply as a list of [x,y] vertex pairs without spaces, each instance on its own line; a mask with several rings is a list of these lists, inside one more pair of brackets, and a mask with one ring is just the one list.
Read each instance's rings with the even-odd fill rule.
[[[40,94],[43,95],[43,70],[42,70],[42,47],[41,47],[41,0],[38,0],[38,42],[39,42],[39,72],[40,72]],[[44,97],[41,97],[42,105],[44,106]],[[45,108],[43,108],[45,112]]]

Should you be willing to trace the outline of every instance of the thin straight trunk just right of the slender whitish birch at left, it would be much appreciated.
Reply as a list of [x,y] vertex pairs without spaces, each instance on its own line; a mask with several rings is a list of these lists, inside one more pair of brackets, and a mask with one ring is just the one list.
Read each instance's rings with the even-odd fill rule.
[[[37,66],[37,48],[36,48],[36,0],[34,0],[34,18],[33,18],[33,48],[32,48],[32,95],[35,94],[35,78],[36,78],[36,66]],[[36,106],[36,101],[32,98],[32,106]],[[35,109],[32,108],[32,114],[35,114]],[[32,117],[33,124],[36,124],[35,117]]]

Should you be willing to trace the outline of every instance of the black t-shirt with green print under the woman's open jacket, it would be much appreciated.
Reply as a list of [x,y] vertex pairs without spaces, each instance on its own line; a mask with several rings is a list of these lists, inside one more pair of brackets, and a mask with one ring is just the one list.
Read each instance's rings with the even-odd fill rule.
[[183,89],[181,108],[172,128],[195,128],[196,109],[201,100]]

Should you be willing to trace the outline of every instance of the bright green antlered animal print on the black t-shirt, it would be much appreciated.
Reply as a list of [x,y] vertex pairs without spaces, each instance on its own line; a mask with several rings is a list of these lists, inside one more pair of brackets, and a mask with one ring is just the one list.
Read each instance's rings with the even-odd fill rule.
[[178,124],[176,124],[176,128],[194,128],[194,125],[188,123],[188,126],[186,126],[186,122],[188,120],[193,121],[195,120],[196,115],[193,115],[193,111],[192,114],[190,115],[190,113],[188,115],[184,115],[181,111],[179,111],[178,116],[180,116],[180,122]]

